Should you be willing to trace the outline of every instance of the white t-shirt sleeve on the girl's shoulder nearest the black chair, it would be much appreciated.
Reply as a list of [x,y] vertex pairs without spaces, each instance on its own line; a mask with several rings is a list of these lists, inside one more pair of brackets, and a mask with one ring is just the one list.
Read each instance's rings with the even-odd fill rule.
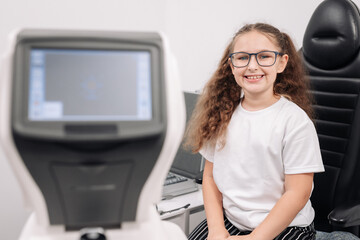
[[307,116],[289,121],[283,139],[283,161],[285,174],[324,171],[315,126]]

